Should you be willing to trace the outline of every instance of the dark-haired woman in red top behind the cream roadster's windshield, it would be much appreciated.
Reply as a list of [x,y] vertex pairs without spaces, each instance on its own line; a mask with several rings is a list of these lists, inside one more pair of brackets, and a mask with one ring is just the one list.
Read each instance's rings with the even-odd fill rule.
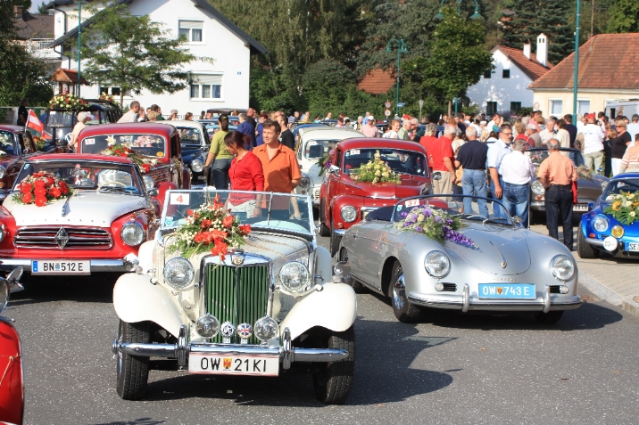
[[[246,146],[251,145],[251,136],[232,131],[224,137],[224,143],[231,155],[236,156],[231,160],[231,167],[228,168],[231,191],[263,192],[264,173],[261,161],[252,151],[246,150]],[[261,216],[259,205],[261,205],[261,195],[237,193],[232,194],[228,199],[228,208],[231,212],[245,218]]]

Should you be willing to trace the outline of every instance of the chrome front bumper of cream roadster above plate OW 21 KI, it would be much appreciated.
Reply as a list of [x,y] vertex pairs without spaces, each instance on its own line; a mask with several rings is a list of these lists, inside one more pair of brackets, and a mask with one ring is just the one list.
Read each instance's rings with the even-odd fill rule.
[[182,325],[176,344],[150,344],[122,342],[113,340],[112,352],[126,353],[130,356],[169,357],[178,359],[180,366],[187,365],[189,353],[207,356],[279,356],[283,369],[289,369],[294,362],[336,362],[348,356],[348,351],[337,348],[294,348],[291,344],[291,332],[286,328],[282,334],[282,346],[250,346],[241,344],[205,344],[188,343],[187,327]]

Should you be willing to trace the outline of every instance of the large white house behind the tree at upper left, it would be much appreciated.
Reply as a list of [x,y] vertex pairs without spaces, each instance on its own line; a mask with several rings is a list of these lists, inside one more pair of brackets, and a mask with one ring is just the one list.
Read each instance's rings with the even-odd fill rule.
[[[185,90],[174,94],[152,94],[144,88],[139,93],[125,93],[125,106],[137,100],[145,108],[158,104],[162,114],[178,110],[183,116],[201,110],[248,108],[251,54],[268,53],[266,48],[239,29],[206,0],[114,0],[112,4],[126,4],[132,15],[149,15],[152,21],[160,22],[170,35],[185,34],[185,47],[199,58],[211,61],[192,61],[184,69],[195,75],[194,81]],[[62,66],[78,69],[77,51],[65,47],[67,40],[78,37],[78,4],[73,0],[54,0],[48,5],[54,10],[55,42],[64,49]],[[82,29],[90,25],[90,12],[82,10]],[[68,30],[64,32],[64,29]],[[170,37],[168,35],[168,37]],[[72,43],[71,43],[72,44]],[[84,63],[84,61],[83,61]],[[120,87],[111,87],[92,81],[92,86],[83,86],[82,97],[98,97],[102,92],[120,97]]]

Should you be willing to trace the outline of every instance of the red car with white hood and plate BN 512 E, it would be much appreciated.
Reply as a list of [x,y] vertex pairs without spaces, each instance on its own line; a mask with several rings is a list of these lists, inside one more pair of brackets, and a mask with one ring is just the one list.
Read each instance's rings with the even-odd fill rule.
[[34,275],[134,270],[153,239],[157,192],[128,158],[35,155],[0,207],[0,265]]

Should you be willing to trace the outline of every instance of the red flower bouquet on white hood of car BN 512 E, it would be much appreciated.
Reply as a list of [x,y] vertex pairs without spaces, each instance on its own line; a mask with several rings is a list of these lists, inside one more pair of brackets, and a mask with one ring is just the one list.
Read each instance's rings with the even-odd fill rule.
[[19,204],[33,204],[44,207],[49,202],[69,198],[75,191],[60,178],[48,171],[40,171],[26,176],[20,183],[20,192],[13,195]]

